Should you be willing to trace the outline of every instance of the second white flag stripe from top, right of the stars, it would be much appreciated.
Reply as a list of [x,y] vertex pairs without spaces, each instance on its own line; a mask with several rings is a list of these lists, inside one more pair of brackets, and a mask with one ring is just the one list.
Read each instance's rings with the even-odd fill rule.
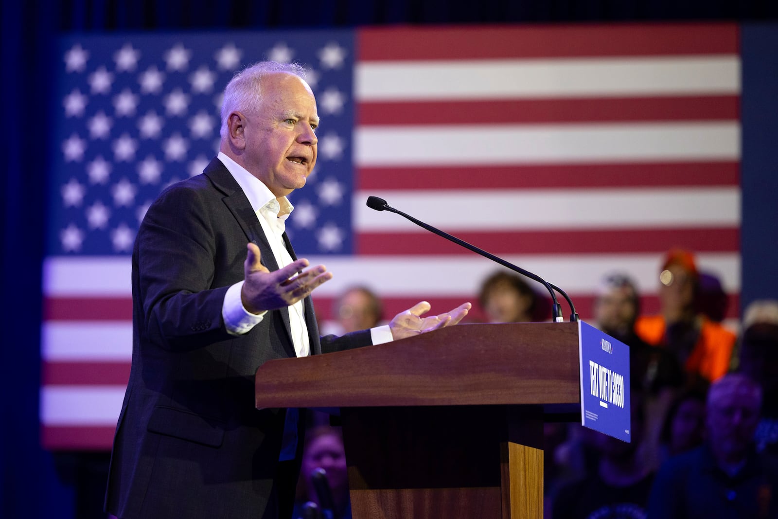
[[[359,167],[738,160],[736,121],[361,126]],[[488,170],[484,171],[488,174]]]

